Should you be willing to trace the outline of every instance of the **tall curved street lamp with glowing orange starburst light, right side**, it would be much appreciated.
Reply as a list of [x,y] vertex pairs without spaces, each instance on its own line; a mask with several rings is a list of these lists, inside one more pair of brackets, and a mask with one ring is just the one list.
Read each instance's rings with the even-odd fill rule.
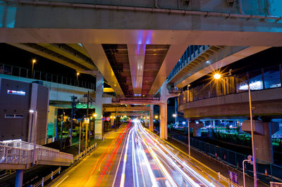
[[[228,77],[234,77],[234,78],[239,78],[239,77],[235,77],[232,76],[231,73],[229,72]],[[219,75],[218,73],[216,73],[214,75],[214,79],[220,79],[221,75]],[[247,90],[249,91],[249,105],[250,105],[250,122],[251,122],[251,136],[252,136],[252,158],[253,158],[253,169],[254,169],[254,186],[257,187],[257,163],[256,163],[256,157],[255,157],[255,141],[254,141],[254,128],[253,128],[253,124],[252,124],[252,100],[251,100],[251,89],[250,89],[250,85],[245,82],[244,79],[241,79],[244,84],[247,84]]]

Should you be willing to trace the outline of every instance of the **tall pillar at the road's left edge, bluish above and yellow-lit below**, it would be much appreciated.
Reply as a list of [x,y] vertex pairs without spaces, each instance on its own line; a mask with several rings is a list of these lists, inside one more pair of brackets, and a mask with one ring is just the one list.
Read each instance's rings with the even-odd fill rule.
[[96,77],[96,105],[95,113],[95,138],[102,139],[102,95],[103,95],[103,76],[101,73],[97,73]]

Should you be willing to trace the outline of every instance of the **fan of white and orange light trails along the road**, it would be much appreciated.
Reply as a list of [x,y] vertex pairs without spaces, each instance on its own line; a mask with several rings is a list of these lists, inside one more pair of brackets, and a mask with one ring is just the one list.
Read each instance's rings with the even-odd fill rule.
[[113,186],[224,186],[138,120],[128,131],[124,149]]

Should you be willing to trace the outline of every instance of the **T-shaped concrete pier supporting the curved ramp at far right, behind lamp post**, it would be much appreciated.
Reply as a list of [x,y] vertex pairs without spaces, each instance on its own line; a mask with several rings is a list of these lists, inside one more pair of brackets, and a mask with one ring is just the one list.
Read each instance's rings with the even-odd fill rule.
[[[253,120],[255,154],[259,163],[274,162],[271,135],[278,131],[278,123]],[[250,120],[242,124],[242,130],[250,133]],[[264,162],[261,162],[264,161]]]

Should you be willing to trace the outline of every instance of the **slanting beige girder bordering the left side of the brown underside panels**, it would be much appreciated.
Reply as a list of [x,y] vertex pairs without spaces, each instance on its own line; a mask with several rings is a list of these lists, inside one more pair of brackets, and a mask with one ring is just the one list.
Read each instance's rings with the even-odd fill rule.
[[118,80],[116,79],[116,75],[114,75],[114,71],[111,68],[108,58],[106,57],[106,53],[101,44],[83,44],[87,53],[89,53],[90,57],[94,64],[98,67],[99,72],[102,73],[103,77],[106,77],[107,82],[111,85],[111,87],[116,92],[118,96],[124,96],[121,86],[118,84]]

